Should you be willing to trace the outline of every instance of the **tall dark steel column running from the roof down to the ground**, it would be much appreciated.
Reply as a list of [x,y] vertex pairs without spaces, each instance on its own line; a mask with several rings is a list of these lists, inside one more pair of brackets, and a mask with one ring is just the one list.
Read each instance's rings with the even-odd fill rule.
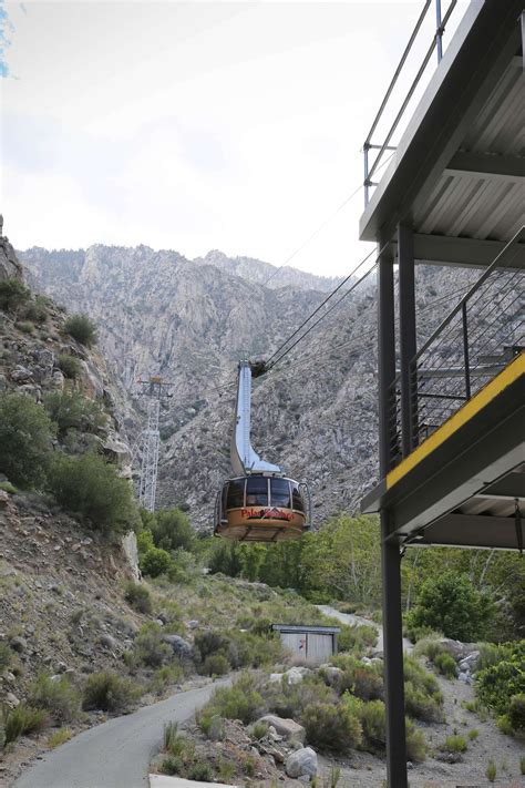
[[[382,241],[382,239],[381,239]],[[380,248],[383,244],[381,243]],[[395,377],[395,324],[393,257],[385,247],[378,265],[379,440],[380,470],[390,470],[392,382]],[[387,541],[389,514],[381,511],[381,565],[383,580],[384,686],[387,702],[387,775],[389,788],[406,788],[404,726],[403,634],[399,545]]]

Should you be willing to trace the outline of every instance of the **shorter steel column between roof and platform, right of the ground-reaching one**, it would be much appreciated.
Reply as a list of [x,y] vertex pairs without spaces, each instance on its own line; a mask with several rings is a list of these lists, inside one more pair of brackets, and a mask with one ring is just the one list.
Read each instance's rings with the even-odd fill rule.
[[398,226],[399,345],[401,364],[401,431],[403,457],[414,447],[413,380],[410,361],[415,356],[414,236],[411,227]]

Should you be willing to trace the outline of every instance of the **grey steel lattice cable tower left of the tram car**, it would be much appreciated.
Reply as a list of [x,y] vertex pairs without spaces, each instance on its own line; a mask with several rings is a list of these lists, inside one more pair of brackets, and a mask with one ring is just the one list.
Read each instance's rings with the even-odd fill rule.
[[147,380],[138,380],[144,386],[144,396],[147,397],[147,426],[142,433],[142,463],[141,478],[138,483],[138,503],[148,512],[155,511],[155,494],[157,488],[158,471],[158,447],[161,433],[158,430],[158,417],[161,413],[161,401],[169,397],[169,387],[157,375],[152,375]]

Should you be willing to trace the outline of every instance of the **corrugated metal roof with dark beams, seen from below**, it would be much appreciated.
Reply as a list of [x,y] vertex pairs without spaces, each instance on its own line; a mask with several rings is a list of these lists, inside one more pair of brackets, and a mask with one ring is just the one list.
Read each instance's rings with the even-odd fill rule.
[[384,244],[406,223],[416,258],[486,265],[497,242],[519,229],[525,213],[521,10],[516,0],[471,3],[362,214],[362,239]]

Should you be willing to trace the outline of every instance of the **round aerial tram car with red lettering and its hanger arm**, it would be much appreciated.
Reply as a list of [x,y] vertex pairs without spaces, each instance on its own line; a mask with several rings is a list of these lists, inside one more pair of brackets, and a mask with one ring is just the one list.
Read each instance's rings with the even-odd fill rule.
[[264,361],[239,362],[230,442],[233,475],[224,482],[215,505],[215,535],[237,542],[299,539],[310,528],[307,484],[286,477],[251,447],[251,377],[265,371]]

